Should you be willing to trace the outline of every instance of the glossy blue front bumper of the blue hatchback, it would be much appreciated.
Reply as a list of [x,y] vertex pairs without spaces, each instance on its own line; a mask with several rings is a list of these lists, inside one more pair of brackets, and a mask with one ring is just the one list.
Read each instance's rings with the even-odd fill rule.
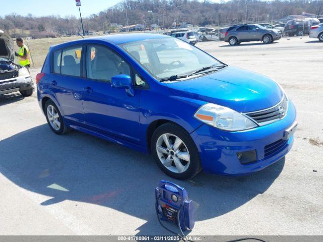
[[[275,123],[255,129],[227,132],[203,124],[191,136],[200,152],[202,168],[205,172],[222,175],[242,175],[261,170],[283,158],[292,148],[291,136],[281,149],[265,155],[265,146],[278,142],[284,131],[296,119],[296,109],[291,101],[286,116]],[[240,163],[237,152],[256,151],[257,161]]]

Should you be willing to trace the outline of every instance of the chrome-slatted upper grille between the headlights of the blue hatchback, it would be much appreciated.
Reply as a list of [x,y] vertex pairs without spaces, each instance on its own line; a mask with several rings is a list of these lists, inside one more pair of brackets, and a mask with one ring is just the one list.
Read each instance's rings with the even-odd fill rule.
[[277,119],[283,118],[286,114],[287,107],[288,101],[284,96],[282,101],[271,108],[254,112],[247,112],[245,114],[251,117],[257,124],[266,125],[275,122],[275,120]]

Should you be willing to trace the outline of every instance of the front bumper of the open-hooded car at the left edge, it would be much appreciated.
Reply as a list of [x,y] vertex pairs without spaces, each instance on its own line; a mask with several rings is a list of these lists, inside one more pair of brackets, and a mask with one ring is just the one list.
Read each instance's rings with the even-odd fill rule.
[[0,95],[24,91],[31,88],[33,88],[33,82],[30,76],[0,81]]

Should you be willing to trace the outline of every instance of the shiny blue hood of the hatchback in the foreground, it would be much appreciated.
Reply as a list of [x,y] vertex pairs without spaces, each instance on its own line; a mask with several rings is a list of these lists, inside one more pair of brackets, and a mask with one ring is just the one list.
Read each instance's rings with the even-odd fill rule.
[[235,67],[167,86],[174,95],[219,104],[238,112],[272,107],[284,95],[273,79]]

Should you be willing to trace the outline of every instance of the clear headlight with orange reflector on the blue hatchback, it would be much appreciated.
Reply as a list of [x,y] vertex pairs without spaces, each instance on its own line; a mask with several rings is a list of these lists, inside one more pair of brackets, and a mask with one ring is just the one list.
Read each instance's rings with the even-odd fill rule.
[[247,116],[213,103],[202,105],[194,117],[207,125],[227,131],[241,131],[257,127]]

